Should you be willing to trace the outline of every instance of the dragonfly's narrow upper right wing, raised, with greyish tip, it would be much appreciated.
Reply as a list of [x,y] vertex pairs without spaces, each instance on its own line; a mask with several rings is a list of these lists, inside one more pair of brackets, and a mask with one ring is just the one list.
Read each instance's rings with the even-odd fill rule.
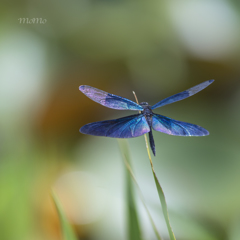
[[203,83],[198,84],[195,87],[189,88],[188,90],[185,90],[183,92],[177,93],[171,97],[165,98],[162,101],[156,103],[155,105],[153,105],[151,108],[155,109],[158,107],[162,107],[164,105],[170,104],[170,103],[174,103],[180,100],[183,100],[185,98],[188,98],[198,92],[200,92],[201,90],[203,90],[204,88],[206,88],[207,86],[209,86],[214,80],[208,80],[205,81]]

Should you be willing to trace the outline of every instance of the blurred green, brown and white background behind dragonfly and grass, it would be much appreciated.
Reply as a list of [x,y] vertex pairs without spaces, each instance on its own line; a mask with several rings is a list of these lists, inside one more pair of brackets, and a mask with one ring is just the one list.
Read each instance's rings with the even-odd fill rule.
[[[35,19],[35,20],[34,20]],[[50,192],[83,240],[126,239],[124,164],[117,140],[79,133],[132,114],[107,109],[86,84],[155,104],[210,135],[154,132],[153,159],[178,240],[240,239],[240,4],[237,0],[0,2],[0,239],[58,240]],[[144,138],[128,140],[133,170],[168,239]],[[136,195],[143,239],[156,239]]]

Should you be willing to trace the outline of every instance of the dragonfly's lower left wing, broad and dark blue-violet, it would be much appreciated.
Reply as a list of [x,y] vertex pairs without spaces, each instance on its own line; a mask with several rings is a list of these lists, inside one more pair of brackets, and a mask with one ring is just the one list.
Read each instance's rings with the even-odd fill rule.
[[80,128],[80,132],[84,134],[112,138],[133,138],[149,131],[150,128],[143,114],[89,123]]

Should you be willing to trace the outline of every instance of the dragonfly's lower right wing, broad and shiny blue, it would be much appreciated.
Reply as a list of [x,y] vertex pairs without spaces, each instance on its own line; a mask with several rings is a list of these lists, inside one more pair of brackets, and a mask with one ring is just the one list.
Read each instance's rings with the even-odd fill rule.
[[178,136],[205,136],[209,132],[192,123],[177,121],[162,115],[153,114],[152,128],[156,131]]

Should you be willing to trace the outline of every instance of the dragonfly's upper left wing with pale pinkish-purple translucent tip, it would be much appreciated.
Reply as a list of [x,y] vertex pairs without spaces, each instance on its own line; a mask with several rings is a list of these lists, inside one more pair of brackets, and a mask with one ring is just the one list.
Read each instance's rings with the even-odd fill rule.
[[140,105],[131,100],[104,92],[97,88],[93,88],[87,85],[81,85],[79,87],[79,90],[93,101],[100,103],[101,105],[108,108],[113,108],[117,110],[143,110]]

